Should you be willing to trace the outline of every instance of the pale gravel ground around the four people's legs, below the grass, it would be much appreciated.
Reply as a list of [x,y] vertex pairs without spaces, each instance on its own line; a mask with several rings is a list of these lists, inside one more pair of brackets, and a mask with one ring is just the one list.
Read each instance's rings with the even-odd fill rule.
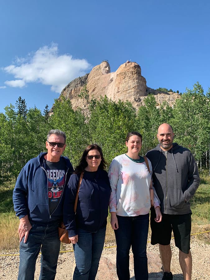
[[[204,241],[205,242],[204,242]],[[197,236],[191,237],[191,253],[193,256],[192,280],[209,280],[210,279],[210,235],[205,234],[203,240],[198,240]],[[115,244],[105,244],[106,246],[114,246]],[[171,271],[174,275],[174,280],[183,279],[181,268],[179,265],[178,249],[174,245],[174,240],[171,242],[172,247],[172,262]],[[63,245],[63,250],[72,250],[72,245]],[[18,254],[18,252],[1,252],[0,254]],[[161,279],[161,261],[159,256],[158,245],[147,245],[149,279]],[[97,280],[101,279],[117,279],[115,269],[116,248],[107,248],[103,250],[100,260]],[[0,256],[0,279],[15,280],[18,275],[19,256]],[[56,280],[72,279],[72,270],[74,269],[74,255],[72,252],[61,253],[58,258],[58,268]],[[40,256],[36,264],[35,279],[39,278]],[[130,258],[130,274],[133,275],[133,258]]]

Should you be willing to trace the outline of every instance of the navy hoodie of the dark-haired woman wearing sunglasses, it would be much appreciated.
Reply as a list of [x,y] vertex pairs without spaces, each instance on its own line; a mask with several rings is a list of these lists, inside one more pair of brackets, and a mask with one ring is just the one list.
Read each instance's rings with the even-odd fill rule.
[[63,222],[68,236],[77,235],[77,228],[94,232],[106,225],[108,204],[111,193],[110,181],[105,170],[98,168],[96,177],[91,179],[85,171],[79,189],[76,215],[74,203],[80,179],[79,174],[72,174],[65,191]]

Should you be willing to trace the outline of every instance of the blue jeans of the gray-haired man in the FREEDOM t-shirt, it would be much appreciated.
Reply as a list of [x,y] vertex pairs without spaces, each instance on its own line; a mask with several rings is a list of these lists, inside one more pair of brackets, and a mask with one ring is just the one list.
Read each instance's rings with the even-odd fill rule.
[[36,259],[41,249],[40,280],[55,279],[58,255],[60,251],[60,240],[58,237],[58,222],[49,225],[38,225],[32,223],[28,239],[24,238],[20,243],[20,264],[18,280],[33,280]]

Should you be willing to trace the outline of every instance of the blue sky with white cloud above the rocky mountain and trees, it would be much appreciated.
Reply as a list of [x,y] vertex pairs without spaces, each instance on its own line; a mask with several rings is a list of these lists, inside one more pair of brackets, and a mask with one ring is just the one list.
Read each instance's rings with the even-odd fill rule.
[[210,87],[207,0],[7,0],[0,7],[0,112],[19,96],[44,110],[107,59],[137,62],[147,86]]

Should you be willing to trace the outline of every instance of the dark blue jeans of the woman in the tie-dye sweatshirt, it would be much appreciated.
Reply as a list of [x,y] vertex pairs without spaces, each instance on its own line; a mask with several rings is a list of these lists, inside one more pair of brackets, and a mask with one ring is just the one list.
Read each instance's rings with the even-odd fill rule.
[[119,228],[114,230],[117,243],[117,276],[129,280],[129,251],[132,246],[136,280],[148,279],[147,235],[149,214],[136,217],[118,216]]

